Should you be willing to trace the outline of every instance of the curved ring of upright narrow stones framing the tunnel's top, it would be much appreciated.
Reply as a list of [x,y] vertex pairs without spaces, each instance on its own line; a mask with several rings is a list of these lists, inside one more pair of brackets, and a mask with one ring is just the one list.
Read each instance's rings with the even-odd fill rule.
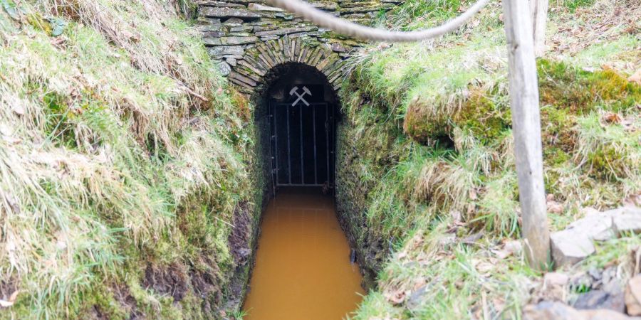
[[243,59],[231,68],[229,80],[241,92],[252,95],[262,90],[264,76],[285,63],[303,63],[323,73],[338,91],[343,80],[345,61],[324,43],[306,43],[302,38],[284,36],[278,40],[257,43],[246,50]]

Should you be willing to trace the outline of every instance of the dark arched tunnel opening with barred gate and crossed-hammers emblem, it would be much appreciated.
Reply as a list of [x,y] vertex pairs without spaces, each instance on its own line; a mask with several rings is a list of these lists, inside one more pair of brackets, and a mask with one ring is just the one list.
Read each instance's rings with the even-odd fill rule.
[[333,188],[338,97],[325,75],[302,63],[278,65],[266,75],[260,104],[274,192]]

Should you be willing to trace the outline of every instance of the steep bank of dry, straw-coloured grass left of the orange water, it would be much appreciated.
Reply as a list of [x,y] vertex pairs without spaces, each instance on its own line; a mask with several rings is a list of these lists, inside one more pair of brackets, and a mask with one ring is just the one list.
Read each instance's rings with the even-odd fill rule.
[[0,4],[0,318],[234,312],[254,129],[184,4]]

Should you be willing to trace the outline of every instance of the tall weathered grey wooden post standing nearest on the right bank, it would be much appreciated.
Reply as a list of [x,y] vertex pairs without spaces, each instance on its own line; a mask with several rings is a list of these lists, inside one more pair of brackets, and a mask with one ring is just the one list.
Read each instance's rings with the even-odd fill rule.
[[510,106],[526,257],[531,267],[548,266],[550,232],[543,188],[541,115],[528,0],[503,0],[508,43]]

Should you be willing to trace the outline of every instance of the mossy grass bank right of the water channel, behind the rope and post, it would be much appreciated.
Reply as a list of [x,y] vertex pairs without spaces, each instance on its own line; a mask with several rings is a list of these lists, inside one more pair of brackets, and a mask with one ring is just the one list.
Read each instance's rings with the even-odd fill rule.
[[[550,50],[537,65],[553,230],[582,208],[616,208],[641,191],[641,87],[627,80],[641,65],[633,2],[566,1],[551,10]],[[424,28],[466,5],[407,1],[381,23]],[[515,241],[521,217],[500,14],[490,4],[456,35],[353,57],[338,210],[361,265],[377,275],[354,319],[519,318],[536,301],[540,274]],[[604,246],[615,243],[616,255],[599,250],[576,268],[628,263],[641,240]]]

